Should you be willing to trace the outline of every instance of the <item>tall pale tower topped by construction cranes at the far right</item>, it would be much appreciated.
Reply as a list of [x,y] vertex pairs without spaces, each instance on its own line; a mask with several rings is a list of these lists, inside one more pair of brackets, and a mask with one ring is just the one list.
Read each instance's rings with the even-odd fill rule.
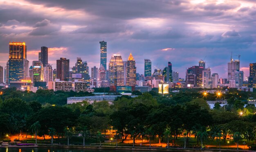
[[235,72],[240,70],[240,61],[230,59],[230,62],[227,63],[227,80],[234,79],[235,80]]

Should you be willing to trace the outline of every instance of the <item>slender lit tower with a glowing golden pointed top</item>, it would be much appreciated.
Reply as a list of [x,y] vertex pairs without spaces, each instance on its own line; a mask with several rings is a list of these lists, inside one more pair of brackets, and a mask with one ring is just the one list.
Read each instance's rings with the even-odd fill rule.
[[127,66],[126,66],[126,85],[127,86],[136,85],[136,66],[135,66],[135,60],[131,53],[128,58]]

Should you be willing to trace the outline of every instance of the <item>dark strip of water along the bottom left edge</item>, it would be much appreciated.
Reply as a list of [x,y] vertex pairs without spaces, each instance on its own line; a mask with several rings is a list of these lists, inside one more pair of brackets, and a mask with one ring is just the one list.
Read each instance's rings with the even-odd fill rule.
[[[118,152],[119,150],[90,150],[90,149],[65,149],[65,148],[0,148],[0,152]],[[122,150],[121,152],[134,152]]]

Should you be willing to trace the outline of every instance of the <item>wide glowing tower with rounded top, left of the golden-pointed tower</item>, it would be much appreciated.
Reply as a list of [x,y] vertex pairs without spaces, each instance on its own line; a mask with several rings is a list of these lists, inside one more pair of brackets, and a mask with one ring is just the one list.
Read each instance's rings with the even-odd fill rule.
[[124,62],[118,54],[112,55],[109,65],[110,86],[124,86]]

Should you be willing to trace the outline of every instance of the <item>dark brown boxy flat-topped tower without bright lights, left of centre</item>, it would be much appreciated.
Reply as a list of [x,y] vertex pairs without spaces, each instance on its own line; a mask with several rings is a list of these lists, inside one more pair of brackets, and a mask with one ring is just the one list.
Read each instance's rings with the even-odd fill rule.
[[57,79],[61,81],[69,80],[69,68],[70,68],[70,60],[66,58],[60,58],[57,60]]

